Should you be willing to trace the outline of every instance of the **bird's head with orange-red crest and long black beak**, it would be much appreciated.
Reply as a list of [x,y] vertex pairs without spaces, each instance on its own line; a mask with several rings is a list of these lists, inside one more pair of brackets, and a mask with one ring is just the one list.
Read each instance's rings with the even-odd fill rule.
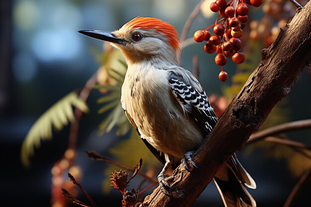
[[128,64],[158,59],[176,62],[179,37],[176,29],[157,18],[136,17],[119,30],[79,30],[84,35],[108,41],[124,54]]

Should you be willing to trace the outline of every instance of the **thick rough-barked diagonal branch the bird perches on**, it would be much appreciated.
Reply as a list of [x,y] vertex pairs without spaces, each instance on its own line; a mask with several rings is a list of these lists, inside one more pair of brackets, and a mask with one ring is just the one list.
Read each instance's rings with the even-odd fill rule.
[[249,76],[215,128],[193,156],[200,169],[187,172],[181,165],[166,181],[175,188],[174,198],[159,188],[141,207],[190,207],[220,167],[249,136],[257,131],[272,108],[289,94],[311,56],[311,3],[296,13],[286,29],[262,50],[258,67]]

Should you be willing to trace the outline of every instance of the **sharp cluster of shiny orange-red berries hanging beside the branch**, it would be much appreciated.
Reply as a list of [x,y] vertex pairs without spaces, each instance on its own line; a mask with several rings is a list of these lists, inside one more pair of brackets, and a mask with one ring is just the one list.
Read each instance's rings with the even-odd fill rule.
[[[227,58],[231,58],[233,63],[241,64],[245,60],[245,55],[239,52],[241,49],[242,28],[248,20],[248,5],[260,6],[262,0],[216,0],[210,5],[213,12],[219,12],[215,24],[204,30],[198,30],[193,38],[196,42],[207,41],[204,46],[206,53],[217,53],[215,63],[222,66],[219,79],[226,81],[227,72],[223,66],[227,64]],[[223,17],[218,20],[219,16]],[[213,27],[214,35],[208,30]]]

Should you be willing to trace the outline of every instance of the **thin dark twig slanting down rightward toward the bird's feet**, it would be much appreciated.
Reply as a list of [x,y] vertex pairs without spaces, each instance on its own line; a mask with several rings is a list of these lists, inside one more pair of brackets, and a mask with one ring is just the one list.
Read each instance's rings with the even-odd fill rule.
[[[112,160],[112,159],[110,159],[108,157],[105,157],[105,156],[102,156],[102,155],[98,154],[95,151],[85,151],[85,153],[87,154],[88,157],[90,157],[90,158],[92,158],[92,159],[94,159],[96,161],[107,162],[107,163],[116,165],[118,167],[121,167],[123,169],[129,170],[129,171],[132,171],[132,172],[135,170],[134,167],[132,167],[132,166],[130,166],[128,164]],[[138,174],[140,174],[142,177],[144,177],[146,180],[148,180],[150,182],[157,182],[156,179],[149,177],[146,173],[142,172],[141,170],[138,172]]]

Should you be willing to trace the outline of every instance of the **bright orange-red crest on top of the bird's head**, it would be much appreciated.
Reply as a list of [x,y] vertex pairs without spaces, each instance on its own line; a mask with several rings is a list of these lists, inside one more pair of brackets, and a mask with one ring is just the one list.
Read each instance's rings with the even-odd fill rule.
[[152,17],[138,16],[126,23],[126,26],[131,28],[154,29],[158,32],[161,32],[165,35],[168,43],[174,48],[176,52],[180,50],[179,36],[176,29],[165,21]]

